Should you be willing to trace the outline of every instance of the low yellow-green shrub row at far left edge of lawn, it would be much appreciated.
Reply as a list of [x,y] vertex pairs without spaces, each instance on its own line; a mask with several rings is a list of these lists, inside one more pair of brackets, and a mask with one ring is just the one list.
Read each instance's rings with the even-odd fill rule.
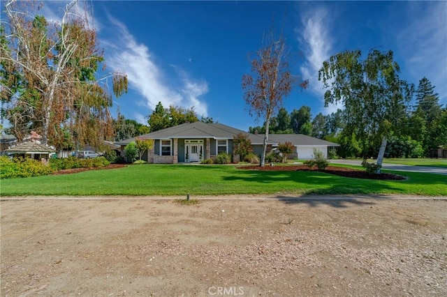
[[30,158],[0,157],[0,178],[22,178],[52,174],[54,169],[43,162]]

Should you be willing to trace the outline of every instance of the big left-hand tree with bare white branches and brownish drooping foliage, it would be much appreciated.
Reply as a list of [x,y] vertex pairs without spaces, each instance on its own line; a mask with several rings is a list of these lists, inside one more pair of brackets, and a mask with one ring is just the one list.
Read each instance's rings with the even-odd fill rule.
[[57,148],[67,140],[100,147],[102,140],[112,138],[112,94],[127,91],[127,77],[119,72],[96,77],[103,50],[77,1],[59,10],[58,22],[38,15],[41,5],[16,0],[4,5],[2,115],[18,139],[35,130],[44,144]]

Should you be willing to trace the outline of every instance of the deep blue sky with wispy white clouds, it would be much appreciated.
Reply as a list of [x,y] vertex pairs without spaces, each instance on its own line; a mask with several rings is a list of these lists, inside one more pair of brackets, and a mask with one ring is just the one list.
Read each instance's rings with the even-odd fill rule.
[[[331,55],[376,47],[393,50],[403,79],[427,77],[447,104],[446,1],[87,1],[105,50],[108,71],[129,77],[129,93],[115,100],[112,115],[147,123],[163,106],[194,107],[199,116],[248,130],[255,122],[242,100],[248,55],[263,33],[284,29],[295,54],[291,68],[309,79],[284,100],[312,117],[328,114],[318,69]],[[47,17],[61,2],[45,1]],[[299,54],[300,53],[300,54]]]

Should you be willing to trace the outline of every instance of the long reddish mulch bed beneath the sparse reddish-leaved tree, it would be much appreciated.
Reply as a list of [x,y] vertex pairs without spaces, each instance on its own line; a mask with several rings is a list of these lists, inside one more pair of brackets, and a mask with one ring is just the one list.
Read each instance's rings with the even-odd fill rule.
[[251,170],[263,170],[263,171],[281,171],[281,172],[295,172],[295,171],[318,171],[318,172],[326,172],[328,174],[335,174],[338,176],[352,177],[352,178],[367,178],[367,179],[382,179],[382,180],[390,180],[390,181],[401,181],[406,179],[404,176],[400,176],[397,174],[368,174],[363,170],[346,168],[346,167],[335,167],[328,166],[324,170],[318,169],[310,169],[305,165],[296,165],[296,166],[269,166],[266,165],[264,167],[260,166],[241,166],[237,167],[239,169],[251,169]]

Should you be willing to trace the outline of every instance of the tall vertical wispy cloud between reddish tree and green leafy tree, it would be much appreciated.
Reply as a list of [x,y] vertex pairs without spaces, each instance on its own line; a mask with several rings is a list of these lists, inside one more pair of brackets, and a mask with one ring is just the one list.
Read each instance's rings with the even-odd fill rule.
[[[305,56],[305,63],[301,66],[301,75],[304,79],[309,79],[310,91],[321,98],[325,89],[323,83],[318,81],[318,70],[323,66],[323,61],[330,57],[332,51],[332,38],[330,34],[330,13],[323,7],[309,8],[301,15],[300,29],[295,30],[298,33],[298,40],[302,45]],[[339,105],[330,105],[321,109],[321,112],[330,114],[336,112]]]

